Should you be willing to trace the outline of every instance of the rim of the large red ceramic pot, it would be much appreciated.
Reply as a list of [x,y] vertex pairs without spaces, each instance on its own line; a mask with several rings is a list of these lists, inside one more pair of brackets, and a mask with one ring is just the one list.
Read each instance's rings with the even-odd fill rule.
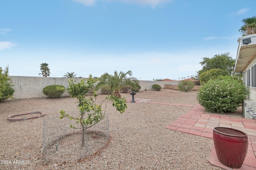
[[224,135],[224,136],[229,136],[229,137],[234,137],[234,138],[246,138],[247,133],[237,130],[237,129],[232,129],[229,127],[214,127],[213,131],[215,133]]

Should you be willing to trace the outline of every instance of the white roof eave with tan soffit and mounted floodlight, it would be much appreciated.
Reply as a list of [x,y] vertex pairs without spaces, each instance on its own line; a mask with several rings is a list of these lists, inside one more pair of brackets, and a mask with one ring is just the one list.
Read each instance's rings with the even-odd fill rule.
[[252,60],[255,59],[255,54],[256,34],[240,37],[234,71],[243,72],[247,68],[248,64],[250,64]]

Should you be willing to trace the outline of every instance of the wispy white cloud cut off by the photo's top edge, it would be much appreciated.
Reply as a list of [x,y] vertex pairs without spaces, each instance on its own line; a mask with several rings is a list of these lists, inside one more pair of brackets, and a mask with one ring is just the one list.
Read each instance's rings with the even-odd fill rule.
[[[94,5],[94,3],[97,0],[73,0],[73,1],[84,4],[84,6],[92,6],[92,5]],[[111,2],[111,1],[114,1],[114,0],[108,0],[108,2]],[[152,7],[156,7],[159,4],[166,3],[166,2],[172,2],[173,0],[115,0],[115,1],[128,2],[128,3],[141,4],[141,5],[149,5]]]

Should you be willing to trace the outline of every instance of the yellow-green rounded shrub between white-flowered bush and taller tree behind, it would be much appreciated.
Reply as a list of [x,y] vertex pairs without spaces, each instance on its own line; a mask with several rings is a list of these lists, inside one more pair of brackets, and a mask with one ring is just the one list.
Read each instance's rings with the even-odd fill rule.
[[218,78],[218,76],[227,76],[227,75],[228,75],[228,72],[226,70],[214,68],[214,69],[208,70],[206,72],[202,72],[200,74],[200,83],[205,84],[209,80],[214,80],[214,79]]

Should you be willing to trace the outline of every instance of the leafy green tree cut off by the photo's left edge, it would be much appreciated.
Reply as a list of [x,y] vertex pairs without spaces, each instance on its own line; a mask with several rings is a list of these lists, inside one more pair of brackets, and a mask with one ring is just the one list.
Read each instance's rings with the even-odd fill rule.
[[12,98],[14,89],[12,88],[11,78],[8,77],[9,66],[5,70],[0,67],[0,101]]

